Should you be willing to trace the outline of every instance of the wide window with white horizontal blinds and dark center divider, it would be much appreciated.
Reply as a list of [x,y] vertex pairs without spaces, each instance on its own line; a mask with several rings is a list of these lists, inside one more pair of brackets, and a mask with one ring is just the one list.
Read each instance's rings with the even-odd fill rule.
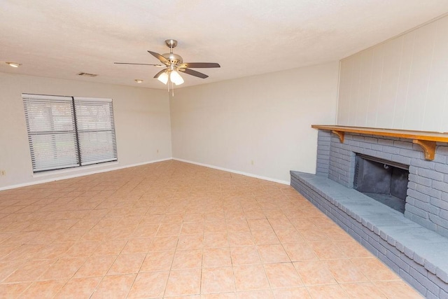
[[34,172],[117,160],[112,99],[22,94]]

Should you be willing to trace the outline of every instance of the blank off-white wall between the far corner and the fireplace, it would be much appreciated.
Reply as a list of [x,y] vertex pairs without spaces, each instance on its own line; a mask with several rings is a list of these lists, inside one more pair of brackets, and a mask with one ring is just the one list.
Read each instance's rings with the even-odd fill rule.
[[335,123],[338,72],[332,62],[175,90],[173,157],[285,183],[290,170],[314,173],[311,125]]

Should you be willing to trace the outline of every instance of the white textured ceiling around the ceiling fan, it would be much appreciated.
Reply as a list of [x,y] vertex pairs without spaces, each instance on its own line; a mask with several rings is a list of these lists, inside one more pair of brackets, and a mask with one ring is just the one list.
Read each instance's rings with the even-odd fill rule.
[[159,68],[113,62],[157,64],[147,50],[176,39],[184,62],[221,64],[183,74],[185,87],[339,60],[447,12],[448,0],[0,0],[0,72],[165,89]]

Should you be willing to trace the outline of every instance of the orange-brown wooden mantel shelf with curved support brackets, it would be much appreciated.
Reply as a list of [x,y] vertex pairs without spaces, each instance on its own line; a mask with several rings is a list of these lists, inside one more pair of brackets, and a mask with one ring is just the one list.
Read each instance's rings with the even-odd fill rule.
[[346,132],[412,139],[414,144],[418,144],[421,148],[423,148],[423,153],[425,153],[426,160],[434,160],[436,142],[448,143],[448,133],[377,129],[374,127],[345,127],[341,125],[311,125],[311,127],[319,130],[328,130],[335,133],[337,137],[339,137],[341,143],[344,143],[344,134]]

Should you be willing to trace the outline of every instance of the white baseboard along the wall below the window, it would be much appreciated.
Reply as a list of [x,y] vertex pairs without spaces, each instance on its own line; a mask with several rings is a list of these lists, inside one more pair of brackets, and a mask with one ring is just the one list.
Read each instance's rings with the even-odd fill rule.
[[[146,165],[146,164],[163,162],[163,161],[167,161],[167,160],[173,160],[173,158],[165,158],[165,159],[160,159],[160,160],[140,162],[140,163],[135,163],[135,164],[131,164],[131,165],[111,167],[111,168],[105,168],[105,169],[95,169],[95,170],[92,170],[92,171],[87,171],[87,172],[82,172],[82,173],[77,173],[77,174],[68,174],[68,175],[52,177],[51,179],[38,179],[36,181],[31,181],[31,182],[27,182],[27,183],[19,183],[19,184],[15,184],[15,185],[0,187],[0,191],[1,190],[8,190],[8,189],[14,189],[14,188],[20,188],[20,187],[37,185],[39,183],[48,183],[50,181],[60,181],[60,180],[63,180],[63,179],[73,179],[73,178],[76,178],[78,176],[88,176],[90,174],[99,174],[99,173],[102,173],[102,172],[111,172],[113,170],[129,168],[129,167],[136,167],[136,166],[141,166],[141,165]],[[76,170],[80,170],[80,169],[76,169]],[[61,174],[67,173],[67,170],[65,170],[65,171],[63,170],[60,173]],[[55,174],[57,174],[57,173],[52,172],[52,174],[48,174],[48,175],[55,175]],[[38,174],[38,175],[36,175],[34,177],[44,177],[44,176],[45,176],[45,174]]]

